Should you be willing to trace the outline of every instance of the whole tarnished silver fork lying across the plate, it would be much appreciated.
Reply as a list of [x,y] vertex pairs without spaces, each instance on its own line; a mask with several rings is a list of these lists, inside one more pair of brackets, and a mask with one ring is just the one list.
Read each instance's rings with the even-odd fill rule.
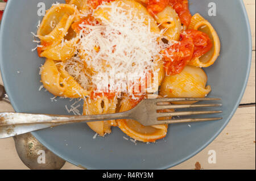
[[160,112],[159,110],[170,110],[179,108],[200,108],[200,107],[218,107],[221,104],[170,104],[170,102],[188,102],[201,100],[220,100],[218,98],[158,98],[143,99],[136,107],[129,111],[102,114],[102,115],[83,115],[83,116],[67,116],[67,115],[46,115],[31,113],[0,113],[0,138],[10,137],[17,134],[23,134],[39,129],[55,127],[62,124],[116,120],[116,119],[133,119],[145,126],[158,124],[187,123],[197,121],[213,121],[220,120],[221,117],[210,118],[184,118],[159,120],[159,117],[170,116],[187,116],[201,115],[211,113],[221,113],[222,111],[177,111],[177,112]]

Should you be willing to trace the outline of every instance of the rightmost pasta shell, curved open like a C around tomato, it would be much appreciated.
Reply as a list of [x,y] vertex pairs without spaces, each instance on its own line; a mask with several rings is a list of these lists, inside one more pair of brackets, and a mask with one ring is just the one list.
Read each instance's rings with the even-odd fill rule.
[[192,17],[192,24],[189,26],[193,30],[199,30],[207,33],[210,39],[213,42],[213,47],[209,52],[205,53],[201,57],[193,58],[189,65],[206,68],[210,65],[213,65],[220,55],[220,39],[218,38],[217,32],[214,30],[212,24],[207,20],[203,20],[203,17],[199,14],[196,14]]

